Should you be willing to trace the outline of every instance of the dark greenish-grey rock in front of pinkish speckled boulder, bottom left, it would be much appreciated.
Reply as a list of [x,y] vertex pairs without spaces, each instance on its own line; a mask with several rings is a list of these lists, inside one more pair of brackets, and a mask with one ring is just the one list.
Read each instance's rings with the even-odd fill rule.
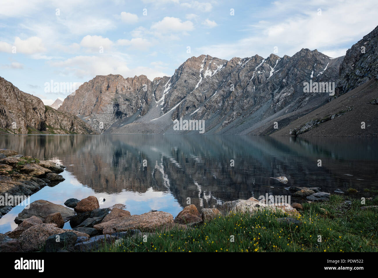
[[45,251],[62,252],[62,250],[67,250],[68,252],[73,252],[76,240],[77,235],[73,232],[49,236],[46,240]]

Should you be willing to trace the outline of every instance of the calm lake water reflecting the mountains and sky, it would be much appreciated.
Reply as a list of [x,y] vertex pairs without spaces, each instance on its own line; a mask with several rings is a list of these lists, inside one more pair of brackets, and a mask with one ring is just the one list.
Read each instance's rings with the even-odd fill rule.
[[[353,187],[356,196],[369,197],[364,188],[378,185],[377,143],[341,137],[0,135],[0,148],[67,166],[60,174],[64,182],[42,188],[30,202],[63,205],[94,195],[105,199],[100,207],[121,203],[131,214],[163,210],[174,217],[187,198],[201,211],[266,193],[290,195],[285,187],[291,185],[330,193]],[[270,178],[277,176],[289,182]],[[22,209],[14,207],[0,219],[0,233],[17,227],[14,218]]]

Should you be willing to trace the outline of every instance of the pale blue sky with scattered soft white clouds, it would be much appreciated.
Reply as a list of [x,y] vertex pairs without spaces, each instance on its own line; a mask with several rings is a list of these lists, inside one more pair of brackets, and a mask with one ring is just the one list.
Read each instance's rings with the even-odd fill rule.
[[0,0],[0,76],[49,105],[96,75],[153,80],[201,54],[229,60],[309,48],[339,57],[378,25],[376,4]]

